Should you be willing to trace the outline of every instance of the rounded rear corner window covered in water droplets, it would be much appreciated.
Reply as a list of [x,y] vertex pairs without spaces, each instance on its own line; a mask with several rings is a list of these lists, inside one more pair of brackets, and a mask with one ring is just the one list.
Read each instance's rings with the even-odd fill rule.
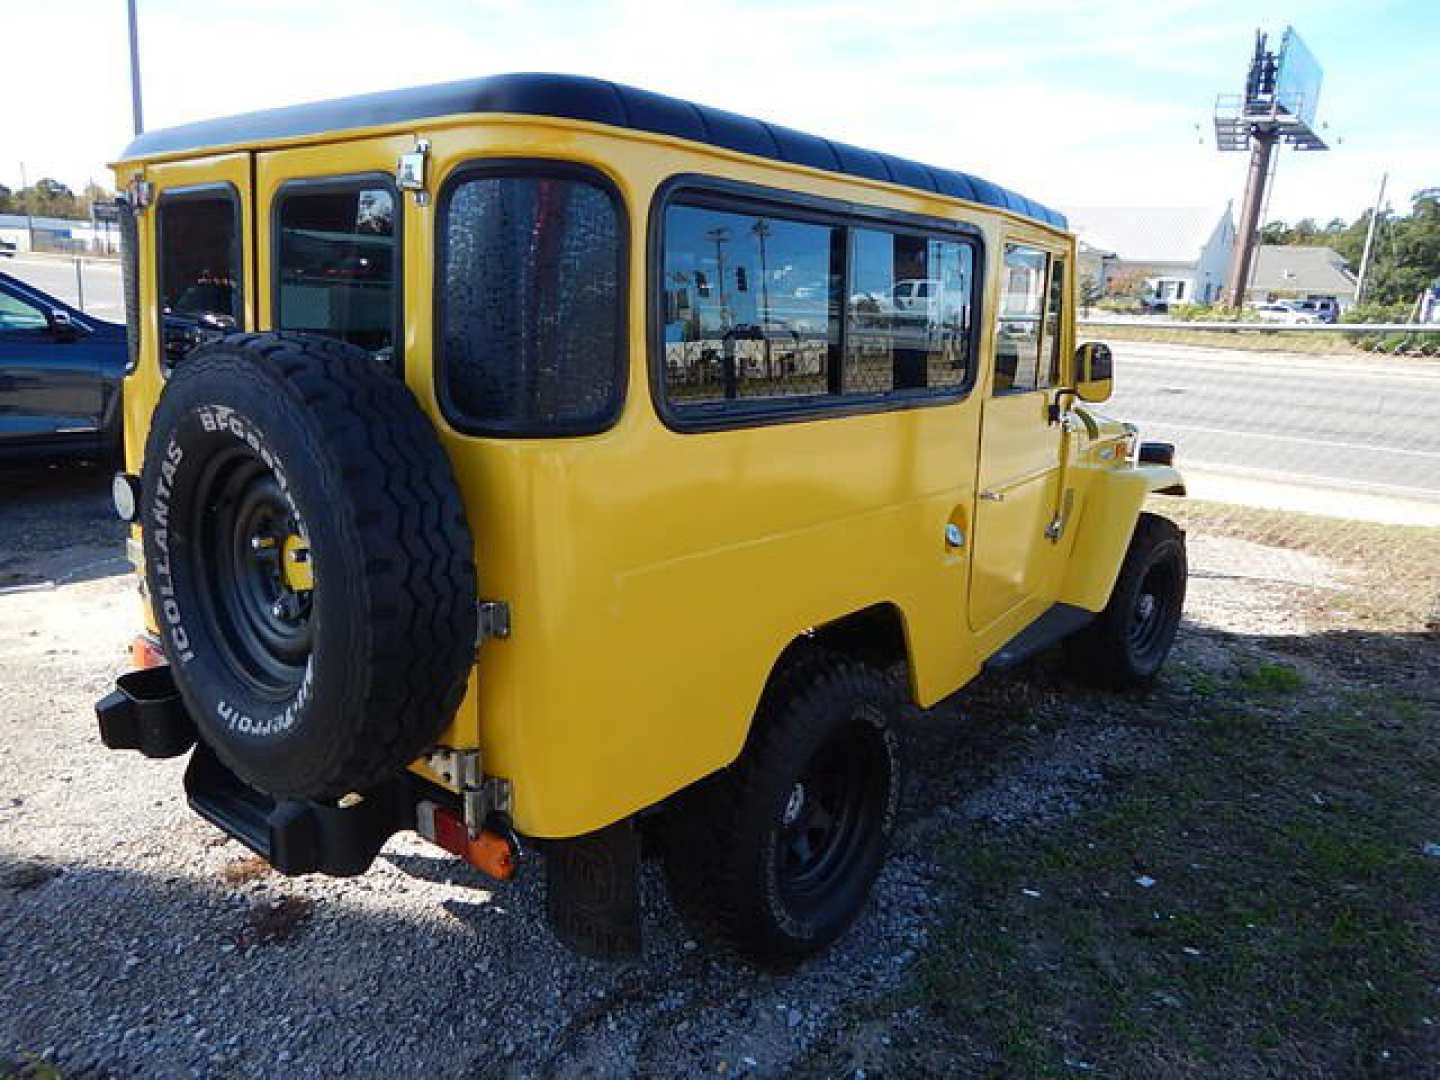
[[562,176],[474,176],[441,207],[441,387],[464,431],[602,431],[625,389],[618,196]]

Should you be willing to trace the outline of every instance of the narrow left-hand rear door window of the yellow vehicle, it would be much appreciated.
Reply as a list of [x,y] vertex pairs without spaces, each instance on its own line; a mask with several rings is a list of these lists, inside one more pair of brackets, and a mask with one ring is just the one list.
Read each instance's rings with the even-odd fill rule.
[[243,323],[239,199],[228,187],[166,192],[156,228],[168,369],[194,346]]

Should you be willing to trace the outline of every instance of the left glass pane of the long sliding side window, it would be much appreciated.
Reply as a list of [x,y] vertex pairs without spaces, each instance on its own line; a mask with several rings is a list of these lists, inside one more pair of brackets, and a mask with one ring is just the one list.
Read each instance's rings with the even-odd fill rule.
[[818,397],[835,389],[842,229],[671,206],[662,274],[667,402]]

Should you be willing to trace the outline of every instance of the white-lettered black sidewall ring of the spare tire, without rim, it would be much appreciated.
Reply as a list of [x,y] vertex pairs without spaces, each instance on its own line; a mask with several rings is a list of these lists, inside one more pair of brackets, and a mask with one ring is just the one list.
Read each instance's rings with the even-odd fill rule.
[[[202,739],[235,769],[276,795],[307,792],[344,746],[346,717],[361,706],[348,658],[363,655],[366,628],[347,618],[359,547],[346,536],[338,475],[312,418],[258,369],[243,363],[181,367],[151,422],[141,495],[147,583],[176,684]],[[287,494],[310,540],[315,577],[311,654],[300,690],[282,701],[248,687],[225,660],[204,615],[215,603],[197,577],[190,530],[196,488],[213,455],[245,446]],[[168,524],[168,527],[167,527]]]

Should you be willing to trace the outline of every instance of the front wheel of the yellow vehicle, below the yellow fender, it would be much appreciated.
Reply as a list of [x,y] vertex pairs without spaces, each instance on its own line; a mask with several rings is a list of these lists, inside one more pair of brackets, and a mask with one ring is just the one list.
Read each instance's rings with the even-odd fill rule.
[[1185,534],[1169,518],[1140,514],[1110,602],[1066,641],[1071,671],[1112,690],[1151,683],[1175,644],[1188,577]]

